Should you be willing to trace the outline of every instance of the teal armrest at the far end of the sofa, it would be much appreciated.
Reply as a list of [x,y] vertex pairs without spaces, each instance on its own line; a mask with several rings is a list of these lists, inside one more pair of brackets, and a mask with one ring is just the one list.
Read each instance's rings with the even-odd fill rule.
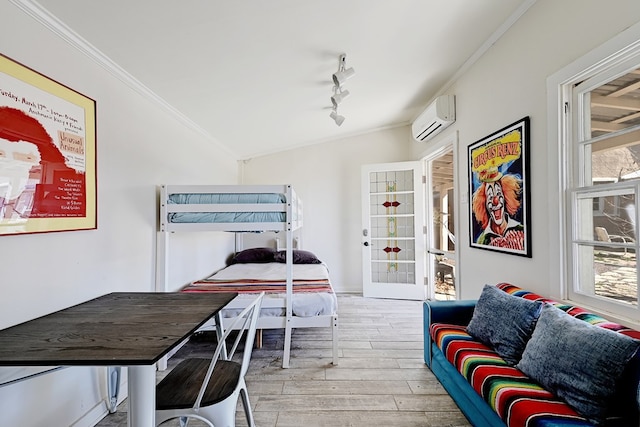
[[452,325],[468,325],[477,300],[456,301],[424,301],[423,333],[424,333],[424,363],[431,367],[431,334],[429,327],[432,323],[449,323]]

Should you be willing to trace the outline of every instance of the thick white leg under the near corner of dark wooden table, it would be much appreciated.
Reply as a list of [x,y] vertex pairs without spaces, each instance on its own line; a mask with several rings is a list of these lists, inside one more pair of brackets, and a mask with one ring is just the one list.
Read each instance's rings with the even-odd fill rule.
[[156,367],[129,366],[129,427],[155,427]]

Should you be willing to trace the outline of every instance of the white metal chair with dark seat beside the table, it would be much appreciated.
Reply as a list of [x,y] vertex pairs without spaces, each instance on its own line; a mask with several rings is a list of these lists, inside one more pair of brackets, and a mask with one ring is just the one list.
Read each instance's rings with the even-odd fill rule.
[[[213,358],[185,359],[156,386],[156,425],[179,418],[180,425],[185,427],[193,418],[211,427],[234,427],[238,397],[241,397],[249,427],[255,427],[244,376],[251,360],[263,297],[264,292],[218,338]],[[234,331],[238,335],[224,358],[225,341]],[[237,360],[239,355],[232,360],[243,337],[241,360]]]

